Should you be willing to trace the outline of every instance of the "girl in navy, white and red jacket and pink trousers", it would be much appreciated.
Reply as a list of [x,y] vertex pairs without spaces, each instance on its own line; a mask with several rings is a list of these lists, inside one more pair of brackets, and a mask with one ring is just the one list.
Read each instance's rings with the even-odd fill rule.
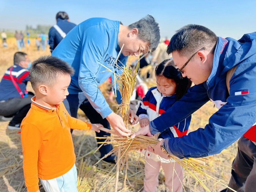
[[[172,59],[160,63],[155,69],[155,76],[157,87],[148,90],[137,111],[140,127],[147,126],[149,121],[153,121],[165,113],[191,87],[191,81],[187,77],[182,77]],[[161,134],[154,135],[154,138],[162,140],[187,135],[190,121],[191,116],[166,129]],[[177,162],[174,163],[173,159],[163,159],[150,151],[144,151],[144,154],[146,154],[144,191],[155,192],[157,190],[158,174],[162,165],[165,172],[165,183],[169,191],[182,192],[183,173],[181,165]]]

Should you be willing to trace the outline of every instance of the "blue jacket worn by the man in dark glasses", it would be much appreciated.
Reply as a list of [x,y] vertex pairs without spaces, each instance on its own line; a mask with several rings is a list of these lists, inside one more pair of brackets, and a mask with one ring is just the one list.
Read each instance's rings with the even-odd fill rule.
[[[226,75],[234,66],[237,68],[230,80],[229,94]],[[181,138],[165,139],[163,147],[168,153],[179,158],[217,154],[255,124],[256,32],[245,34],[238,41],[218,37],[212,71],[207,81],[191,87],[162,116],[150,121],[151,133],[165,131],[190,116],[210,99],[219,109],[218,112],[210,117],[204,129],[199,128]],[[251,134],[255,137],[255,125],[250,130],[255,130]]]

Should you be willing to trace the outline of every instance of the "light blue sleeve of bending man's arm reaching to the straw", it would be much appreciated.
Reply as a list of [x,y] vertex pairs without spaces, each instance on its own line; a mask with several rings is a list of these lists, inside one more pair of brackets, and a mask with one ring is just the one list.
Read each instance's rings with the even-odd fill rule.
[[96,74],[102,57],[109,44],[109,34],[105,27],[97,25],[86,29],[81,38],[82,53],[78,83],[93,108],[105,118],[112,110],[99,90]]

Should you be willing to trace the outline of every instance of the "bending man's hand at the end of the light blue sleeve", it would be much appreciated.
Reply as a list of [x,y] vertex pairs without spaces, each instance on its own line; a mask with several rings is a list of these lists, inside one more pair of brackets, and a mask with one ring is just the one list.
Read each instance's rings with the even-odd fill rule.
[[125,128],[123,118],[119,115],[112,112],[106,117],[106,119],[119,136],[125,137],[131,135],[131,130]]

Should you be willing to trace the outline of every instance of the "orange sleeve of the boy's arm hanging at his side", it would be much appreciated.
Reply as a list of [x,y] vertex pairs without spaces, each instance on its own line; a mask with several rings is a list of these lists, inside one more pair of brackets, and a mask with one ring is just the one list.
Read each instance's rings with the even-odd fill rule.
[[28,192],[35,192],[39,189],[37,161],[38,151],[42,144],[41,132],[32,124],[22,124],[21,143],[25,184]]

